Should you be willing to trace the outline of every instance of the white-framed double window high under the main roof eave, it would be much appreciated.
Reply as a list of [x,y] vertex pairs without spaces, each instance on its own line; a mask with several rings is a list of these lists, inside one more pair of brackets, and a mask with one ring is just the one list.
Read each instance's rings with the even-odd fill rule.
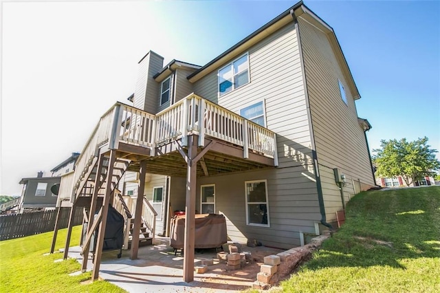
[[219,70],[219,96],[249,83],[248,53]]

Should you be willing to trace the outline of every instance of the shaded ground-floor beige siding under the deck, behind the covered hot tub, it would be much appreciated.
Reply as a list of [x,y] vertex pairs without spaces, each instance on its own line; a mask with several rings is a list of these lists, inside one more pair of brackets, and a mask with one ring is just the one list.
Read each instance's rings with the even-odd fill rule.
[[[200,186],[215,184],[216,213],[225,215],[232,241],[257,239],[265,246],[292,248],[300,245],[299,232],[314,233],[320,220],[316,183],[306,175],[297,166],[197,178],[196,206],[200,206]],[[245,181],[251,180],[267,180],[270,227],[246,224]]]

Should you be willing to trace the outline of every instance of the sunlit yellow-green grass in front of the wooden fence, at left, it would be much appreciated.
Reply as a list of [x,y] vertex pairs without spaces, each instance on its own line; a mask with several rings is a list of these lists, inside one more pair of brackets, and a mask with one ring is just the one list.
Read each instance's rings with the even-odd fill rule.
[[[79,243],[80,228],[73,228],[71,245]],[[56,250],[65,245],[67,229],[59,230]],[[74,259],[57,262],[63,254],[50,251],[53,232],[0,242],[0,292],[125,292],[107,281],[82,284],[91,272],[69,276],[80,270]],[[86,282],[87,283],[87,282]]]

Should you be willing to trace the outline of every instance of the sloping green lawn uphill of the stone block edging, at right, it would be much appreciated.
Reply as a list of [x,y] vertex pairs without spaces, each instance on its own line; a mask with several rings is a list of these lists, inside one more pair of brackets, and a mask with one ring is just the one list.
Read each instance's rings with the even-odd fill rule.
[[440,187],[360,193],[283,292],[440,292]]

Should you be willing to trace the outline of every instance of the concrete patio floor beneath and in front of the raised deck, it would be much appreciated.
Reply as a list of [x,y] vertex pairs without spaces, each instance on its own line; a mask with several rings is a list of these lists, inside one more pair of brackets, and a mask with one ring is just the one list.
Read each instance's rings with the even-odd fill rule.
[[[116,257],[118,251],[104,251],[100,277],[128,292],[237,292],[252,287],[263,257],[283,251],[264,246],[243,246],[242,251],[251,253],[250,261],[241,270],[227,270],[225,263],[217,261],[215,249],[196,250],[196,266],[203,259],[214,259],[214,265],[210,265],[204,274],[195,273],[194,281],[186,283],[183,281],[184,258],[179,252],[175,255],[168,245],[168,238],[158,238],[156,243],[141,247],[138,259],[134,261],[130,259],[129,250],[122,250],[120,259]],[[227,251],[228,245],[223,247]],[[80,250],[79,246],[69,248],[69,257],[82,263]],[[87,270],[92,268],[89,256]]]

